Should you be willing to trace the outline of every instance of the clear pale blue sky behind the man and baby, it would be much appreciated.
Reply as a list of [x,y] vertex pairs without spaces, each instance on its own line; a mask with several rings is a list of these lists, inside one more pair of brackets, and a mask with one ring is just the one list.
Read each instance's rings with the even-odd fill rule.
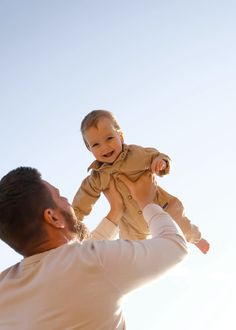
[[[233,0],[0,0],[0,177],[37,167],[72,200],[93,160],[80,122],[108,109],[126,143],[170,155],[159,184],[211,243],[126,298],[131,330],[236,328],[235,12]],[[101,198],[85,223],[107,210]],[[0,242],[0,270],[20,259]]]

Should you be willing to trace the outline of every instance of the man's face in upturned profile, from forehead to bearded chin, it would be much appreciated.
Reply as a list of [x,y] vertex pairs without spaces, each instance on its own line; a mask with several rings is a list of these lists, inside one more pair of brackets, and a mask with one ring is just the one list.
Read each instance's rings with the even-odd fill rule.
[[59,212],[66,224],[65,234],[69,239],[73,239],[77,236],[81,239],[81,227],[83,227],[83,225],[77,219],[71,204],[68,202],[68,199],[61,196],[59,189],[46,181],[44,181],[44,183],[50,191],[53,201],[56,204],[56,211]]

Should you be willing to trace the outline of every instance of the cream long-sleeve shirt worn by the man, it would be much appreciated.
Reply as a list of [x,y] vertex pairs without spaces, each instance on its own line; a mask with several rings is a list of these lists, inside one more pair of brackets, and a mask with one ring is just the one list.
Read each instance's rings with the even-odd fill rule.
[[[122,297],[187,254],[183,234],[167,213],[154,204],[143,213],[152,239],[73,241],[5,270],[0,329],[125,329]],[[101,236],[107,233],[100,227]]]

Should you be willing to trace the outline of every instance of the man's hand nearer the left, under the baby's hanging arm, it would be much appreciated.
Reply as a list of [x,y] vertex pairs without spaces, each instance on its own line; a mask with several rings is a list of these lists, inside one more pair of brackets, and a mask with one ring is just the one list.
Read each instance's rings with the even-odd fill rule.
[[119,220],[124,211],[124,203],[121,194],[117,191],[114,179],[111,177],[109,188],[103,191],[106,199],[110,204],[110,212],[106,216],[115,225],[118,225]]

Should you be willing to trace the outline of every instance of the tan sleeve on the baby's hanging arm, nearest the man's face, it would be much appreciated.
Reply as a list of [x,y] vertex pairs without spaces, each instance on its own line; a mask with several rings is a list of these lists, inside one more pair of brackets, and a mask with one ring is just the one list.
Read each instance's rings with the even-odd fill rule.
[[100,197],[99,182],[99,175],[94,172],[82,181],[72,202],[78,220],[83,220],[84,216],[91,212],[93,205]]

